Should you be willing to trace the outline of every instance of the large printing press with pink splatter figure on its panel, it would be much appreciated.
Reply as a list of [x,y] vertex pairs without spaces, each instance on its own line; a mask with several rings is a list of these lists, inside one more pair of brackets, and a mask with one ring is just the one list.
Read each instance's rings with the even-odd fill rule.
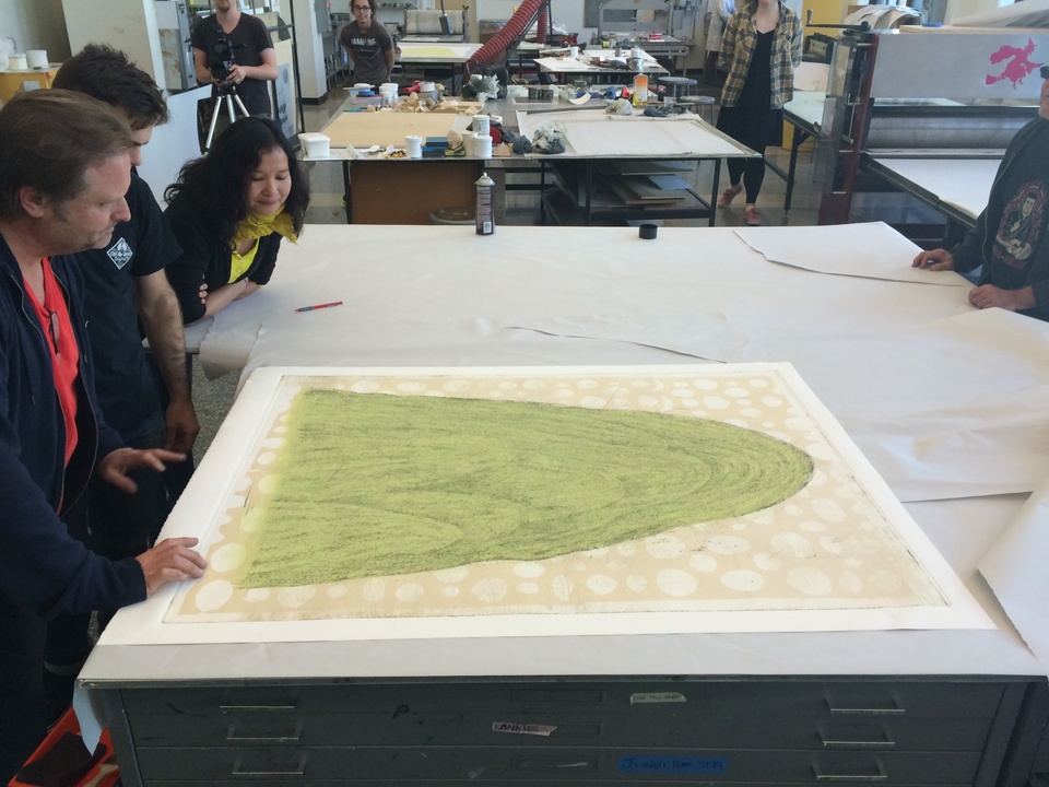
[[849,31],[836,39],[821,141],[821,224],[884,221],[952,243],[986,204],[1010,140],[1038,114],[1049,33]]

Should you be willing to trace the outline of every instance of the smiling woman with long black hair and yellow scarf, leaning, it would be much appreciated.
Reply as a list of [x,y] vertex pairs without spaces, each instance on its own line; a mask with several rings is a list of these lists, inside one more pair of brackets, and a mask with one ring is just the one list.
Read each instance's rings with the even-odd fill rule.
[[281,239],[303,230],[305,173],[271,120],[241,118],[165,192],[182,247],[166,268],[187,325],[250,295],[273,274]]

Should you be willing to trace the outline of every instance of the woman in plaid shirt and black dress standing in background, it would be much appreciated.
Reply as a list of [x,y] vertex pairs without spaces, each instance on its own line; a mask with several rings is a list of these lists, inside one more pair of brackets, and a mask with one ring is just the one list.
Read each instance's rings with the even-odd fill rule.
[[[719,64],[728,71],[721,90],[718,129],[764,154],[783,141],[783,104],[794,95],[794,66],[801,62],[798,14],[780,0],[743,0],[721,38]],[[729,158],[730,186],[718,198],[727,208],[746,188],[744,221],[762,223],[755,202],[765,179],[764,158]]]

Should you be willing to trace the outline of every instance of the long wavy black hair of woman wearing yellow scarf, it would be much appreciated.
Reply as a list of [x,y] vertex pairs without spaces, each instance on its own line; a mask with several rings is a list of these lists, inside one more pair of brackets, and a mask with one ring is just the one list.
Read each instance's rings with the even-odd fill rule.
[[284,212],[292,218],[298,233],[309,207],[306,173],[276,124],[264,118],[240,118],[229,126],[208,155],[182,167],[164,198],[173,208],[185,202],[184,208],[204,211],[219,237],[232,242],[237,224],[248,215],[246,193],[251,173],[262,162],[262,155],[272,150],[282,150],[287,156],[292,189],[284,202]]

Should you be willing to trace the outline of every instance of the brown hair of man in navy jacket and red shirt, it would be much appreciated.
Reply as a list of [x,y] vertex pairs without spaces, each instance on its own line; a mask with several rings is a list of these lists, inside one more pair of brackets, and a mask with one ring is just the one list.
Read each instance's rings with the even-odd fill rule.
[[24,187],[59,204],[75,199],[90,167],[133,146],[128,124],[91,96],[64,90],[16,95],[0,110],[0,220],[22,215]]

